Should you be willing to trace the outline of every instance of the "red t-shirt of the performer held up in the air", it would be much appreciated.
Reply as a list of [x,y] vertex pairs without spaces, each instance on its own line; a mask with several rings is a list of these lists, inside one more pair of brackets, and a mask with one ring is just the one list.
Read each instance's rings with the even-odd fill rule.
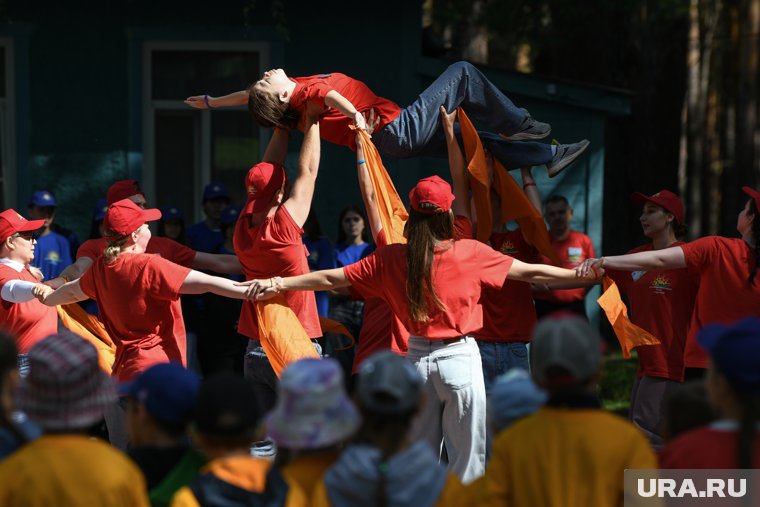
[[331,143],[348,146],[356,150],[356,134],[348,126],[353,118],[345,116],[337,109],[325,106],[325,96],[332,90],[343,95],[357,111],[364,113],[370,109],[380,118],[376,130],[392,122],[401,113],[401,108],[388,99],[378,97],[367,85],[338,72],[318,74],[316,76],[293,78],[296,87],[290,96],[290,107],[303,111],[306,102],[318,104],[324,112],[319,116],[319,135]]

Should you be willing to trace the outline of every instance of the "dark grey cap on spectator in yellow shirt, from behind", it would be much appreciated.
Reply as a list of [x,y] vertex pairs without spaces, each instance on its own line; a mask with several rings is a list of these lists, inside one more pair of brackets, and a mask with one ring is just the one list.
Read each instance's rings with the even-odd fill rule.
[[599,332],[576,315],[541,319],[530,346],[533,378],[550,394],[592,390],[601,370],[600,342]]

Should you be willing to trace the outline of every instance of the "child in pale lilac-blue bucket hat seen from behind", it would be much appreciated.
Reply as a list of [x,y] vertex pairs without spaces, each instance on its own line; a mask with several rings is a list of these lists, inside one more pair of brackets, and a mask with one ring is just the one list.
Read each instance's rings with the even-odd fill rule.
[[290,364],[280,378],[278,401],[266,427],[277,444],[283,475],[311,497],[338,459],[340,446],[359,427],[339,363],[302,359]]

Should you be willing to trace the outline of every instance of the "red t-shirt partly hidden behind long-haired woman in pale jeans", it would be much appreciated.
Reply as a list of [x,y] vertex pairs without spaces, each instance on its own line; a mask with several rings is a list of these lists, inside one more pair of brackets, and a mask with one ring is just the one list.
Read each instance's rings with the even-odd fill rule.
[[[385,231],[380,231],[375,240],[378,247],[388,244]],[[392,350],[401,356],[406,355],[409,331],[393,314],[391,307],[382,298],[365,298],[359,290],[349,287],[349,292],[356,299],[364,299],[364,320],[356,343],[352,373],[357,373],[361,364],[375,352]]]

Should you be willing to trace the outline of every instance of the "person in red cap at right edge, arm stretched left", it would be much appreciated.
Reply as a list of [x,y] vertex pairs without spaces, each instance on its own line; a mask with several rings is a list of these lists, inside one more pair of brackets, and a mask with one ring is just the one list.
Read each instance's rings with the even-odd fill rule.
[[749,196],[739,212],[736,229],[741,238],[707,236],[679,246],[614,257],[587,259],[576,268],[584,276],[600,269],[649,271],[688,269],[699,277],[687,343],[695,343],[707,324],[729,324],[742,317],[760,317],[760,192],[743,187]]

